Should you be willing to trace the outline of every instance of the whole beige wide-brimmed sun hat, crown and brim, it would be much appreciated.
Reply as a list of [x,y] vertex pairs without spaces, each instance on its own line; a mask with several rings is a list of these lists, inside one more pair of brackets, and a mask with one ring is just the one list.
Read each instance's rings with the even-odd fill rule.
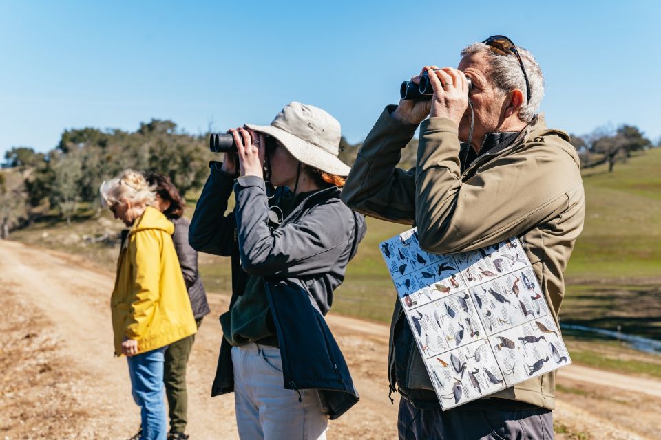
[[337,158],[341,131],[339,122],[313,105],[290,102],[271,125],[246,124],[251,130],[273,136],[306,165],[328,174],[346,177],[351,168]]

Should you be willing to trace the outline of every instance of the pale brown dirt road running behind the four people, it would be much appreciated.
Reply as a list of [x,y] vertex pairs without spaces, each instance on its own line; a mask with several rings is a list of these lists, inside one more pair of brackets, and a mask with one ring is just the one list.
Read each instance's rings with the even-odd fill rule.
[[[112,355],[108,298],[114,274],[78,256],[0,241],[0,432],[4,439],[126,439],[139,423],[124,359]],[[233,396],[211,399],[209,387],[222,338],[216,320],[227,296],[210,295],[212,312],[196,337],[189,362],[189,434],[235,439]],[[397,397],[385,376],[388,327],[344,316],[328,322],[346,356],[361,401],[330,423],[329,439],[396,439]],[[661,401],[661,382],[585,366],[568,366],[559,381],[611,393],[627,401]],[[578,384],[578,385],[577,385]],[[633,397],[632,397],[633,396]],[[624,420],[597,416],[560,399],[555,417],[571,437],[637,439]],[[640,431],[638,431],[640,432]],[[651,438],[651,437],[650,437]]]

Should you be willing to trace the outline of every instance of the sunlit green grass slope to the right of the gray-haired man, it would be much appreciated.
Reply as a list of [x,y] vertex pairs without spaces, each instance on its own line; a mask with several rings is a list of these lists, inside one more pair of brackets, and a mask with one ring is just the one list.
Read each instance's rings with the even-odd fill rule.
[[585,228],[571,256],[571,283],[661,277],[661,150],[584,173]]

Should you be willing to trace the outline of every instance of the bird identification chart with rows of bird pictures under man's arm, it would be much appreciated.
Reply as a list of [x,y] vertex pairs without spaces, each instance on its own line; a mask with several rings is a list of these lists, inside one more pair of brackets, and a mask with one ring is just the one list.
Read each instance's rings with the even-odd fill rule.
[[428,254],[413,228],[381,253],[443,410],[571,363],[518,239]]

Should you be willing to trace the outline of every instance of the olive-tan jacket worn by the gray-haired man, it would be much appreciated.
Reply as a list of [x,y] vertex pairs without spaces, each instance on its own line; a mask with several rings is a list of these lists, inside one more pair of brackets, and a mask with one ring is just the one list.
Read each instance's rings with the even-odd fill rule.
[[[401,148],[417,126],[392,118],[392,109],[386,107],[361,146],[342,200],[366,215],[417,225],[421,247],[436,254],[476,250],[517,236],[557,322],[565,294],[563,273],[585,215],[578,155],[569,136],[547,129],[537,115],[514,142],[495,146],[462,170],[457,126],[447,118],[429,118],[420,125],[417,166],[402,170],[397,168]],[[407,383],[395,384],[393,333],[401,315],[397,301],[390,329],[390,384],[433,391],[417,351],[407,363]],[[552,410],[554,395],[552,372],[492,397]]]

